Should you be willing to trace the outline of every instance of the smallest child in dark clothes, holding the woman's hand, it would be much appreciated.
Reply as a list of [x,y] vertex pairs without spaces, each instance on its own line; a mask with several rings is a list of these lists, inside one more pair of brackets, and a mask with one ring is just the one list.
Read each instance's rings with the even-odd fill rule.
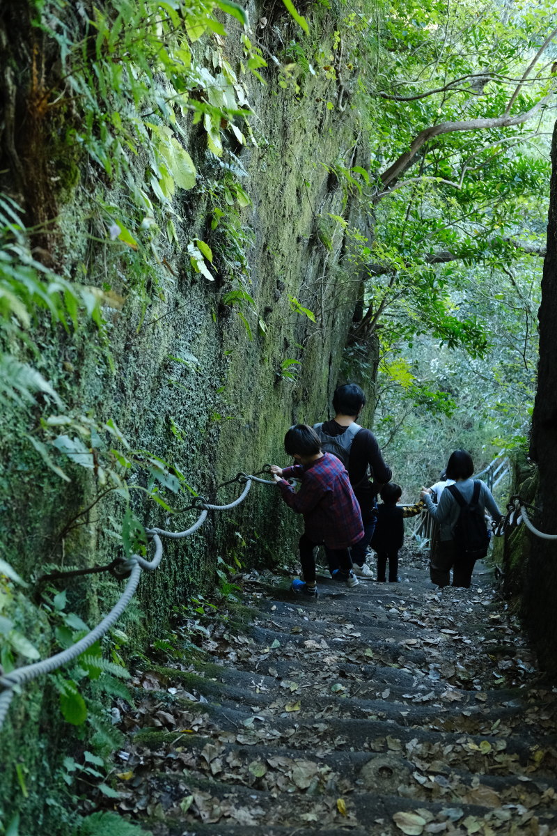
[[416,505],[397,505],[403,489],[394,482],[383,485],[379,492],[382,504],[377,506],[377,525],[372,537],[372,548],[377,552],[377,580],[384,584],[387,563],[389,584],[396,584],[398,577],[398,549],[404,542],[404,520],[415,517],[424,507],[423,500]]

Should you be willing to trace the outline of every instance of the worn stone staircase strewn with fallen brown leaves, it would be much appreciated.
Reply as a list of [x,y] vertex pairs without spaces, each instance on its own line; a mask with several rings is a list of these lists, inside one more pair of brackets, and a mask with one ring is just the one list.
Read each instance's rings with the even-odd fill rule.
[[[557,834],[557,689],[491,575],[436,592],[252,573],[124,714],[119,810],[156,836]],[[189,644],[189,643],[192,644]]]

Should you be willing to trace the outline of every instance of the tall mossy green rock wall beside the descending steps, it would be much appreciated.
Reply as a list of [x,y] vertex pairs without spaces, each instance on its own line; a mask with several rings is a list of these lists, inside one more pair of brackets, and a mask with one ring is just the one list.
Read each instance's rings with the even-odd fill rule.
[[[339,164],[365,167],[367,159],[360,116],[351,104],[350,71],[335,52],[334,14],[319,9],[304,48],[317,69],[317,62],[336,56],[337,73],[312,74],[298,65],[288,69],[288,48],[301,41],[296,23],[280,13],[262,24],[254,8],[251,17],[260,20],[258,43],[269,64],[261,69],[265,84],[249,75],[242,81],[255,114],[256,144],[235,144],[229,137],[219,160],[185,111],[180,130],[197,177],[187,191],[176,189],[164,218],[156,216],[159,226],[163,220],[168,225],[168,234],[158,234],[155,223],[138,217],[132,230],[136,246],[122,237],[111,240],[114,217],[129,217],[131,186],[117,171],[109,176],[73,139],[79,101],[65,92],[56,43],[33,24],[41,8],[29,2],[16,10],[8,4],[0,14],[8,114],[0,136],[1,185],[33,227],[33,258],[76,286],[97,288],[103,323],[65,330],[39,312],[28,329],[38,350],[3,334],[3,350],[32,361],[61,399],[56,404],[39,393],[23,409],[8,400],[0,416],[4,559],[31,582],[44,568],[108,563],[122,549],[126,502],[118,492],[101,496],[97,462],[84,468],[48,446],[51,463],[69,477],[64,482],[30,441],[29,436],[48,444],[55,432],[63,432],[44,424],[49,416],[62,413],[95,426],[114,421],[136,458],[160,456],[210,499],[215,486],[237,472],[285,461],[282,438],[292,422],[327,417],[361,292],[361,281],[344,258],[342,222],[330,216],[365,232],[365,199],[334,171]],[[48,4],[45,9],[52,11]],[[86,3],[68,9],[68,26],[73,14],[85,16],[87,10]],[[210,67],[217,41],[210,36],[196,44],[201,64]],[[237,68],[246,60],[239,25],[230,26],[225,43],[227,60]],[[274,54],[278,69],[269,59]],[[59,95],[44,113],[33,99],[38,66],[45,77],[42,89],[52,85],[48,101]],[[132,185],[147,190],[149,155],[141,150],[134,156],[134,177]],[[237,199],[235,184],[251,204]],[[224,214],[215,214],[215,206],[224,207]],[[195,239],[211,248],[213,263],[207,266],[213,281],[192,267],[188,246]],[[236,297],[226,303],[233,292],[248,294],[251,301]],[[146,502],[147,481],[140,474],[129,482],[130,507],[144,525],[180,530],[195,519],[195,512],[175,516]],[[218,499],[230,501],[239,491],[237,485],[225,488]],[[227,563],[235,556],[270,565],[293,553],[297,530],[275,490],[256,485],[234,512],[215,513],[187,541],[165,543],[160,569],[140,584],[139,610],[124,620],[132,648],[157,638],[173,608],[214,585],[219,556]],[[6,581],[3,614],[42,656],[58,649],[52,596],[63,588],[68,610],[94,624],[121,585],[105,574],[50,584],[43,603],[51,617],[39,620],[35,604],[44,585],[35,586],[32,604],[27,591]],[[113,651],[114,645],[125,655],[110,640]],[[3,760],[13,768],[0,778],[0,798],[8,810],[22,808],[24,822],[43,827],[50,821],[51,832],[58,827],[67,833],[63,817],[50,813],[51,819],[58,817],[53,825],[43,803],[59,783],[65,751],[60,741],[67,725],[57,702],[53,684],[44,680],[15,698],[2,738]]]

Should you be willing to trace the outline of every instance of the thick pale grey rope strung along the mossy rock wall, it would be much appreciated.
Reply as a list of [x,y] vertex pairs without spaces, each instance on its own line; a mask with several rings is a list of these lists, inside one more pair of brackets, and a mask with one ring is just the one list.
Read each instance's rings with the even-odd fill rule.
[[203,523],[205,523],[205,519],[207,518],[209,511],[227,511],[230,508],[236,507],[236,505],[240,505],[250,492],[252,481],[263,482],[266,485],[275,484],[275,482],[269,482],[266,479],[258,479],[257,477],[246,475],[246,487],[241,492],[240,497],[235,499],[234,502],[229,502],[228,505],[209,505],[203,502],[203,511],[200,513],[200,516],[195,523],[185,531],[171,532],[165,531],[162,528],[145,528],[145,532],[153,538],[154,557],[152,560],[146,560],[141,557],[141,555],[134,554],[128,561],[122,563],[121,568],[123,573],[126,571],[129,571],[130,573],[128,583],[126,584],[124,592],[120,595],[116,604],[114,604],[114,607],[110,610],[109,614],[104,617],[100,624],[98,624],[94,630],[91,630],[87,635],[85,635],[83,639],[80,639],[75,643],[75,645],[66,648],[66,650],[61,650],[60,653],[49,656],[48,659],[33,662],[33,665],[23,665],[17,670],[12,670],[9,674],[0,676],[0,685],[4,686],[6,689],[5,691],[0,692],[0,728],[2,728],[3,722],[8,713],[8,708],[13,698],[14,688],[18,688],[18,686],[22,686],[25,683],[36,679],[40,675],[51,673],[53,670],[57,670],[57,668],[67,665],[68,662],[76,659],[78,655],[84,653],[85,650],[89,650],[89,647],[94,645],[96,641],[101,639],[110,630],[112,625],[119,619],[120,615],[124,612],[124,609],[128,606],[129,601],[134,596],[135,590],[139,584],[142,569],[145,569],[147,572],[154,572],[154,570],[160,565],[160,561],[163,556],[163,544],[161,543],[160,537],[167,537],[170,539],[189,537],[190,534],[193,534],[203,525]]

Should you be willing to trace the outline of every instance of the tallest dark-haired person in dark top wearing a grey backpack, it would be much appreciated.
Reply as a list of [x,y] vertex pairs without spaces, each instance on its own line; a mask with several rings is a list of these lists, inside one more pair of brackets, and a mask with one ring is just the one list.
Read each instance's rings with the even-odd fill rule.
[[[364,535],[350,549],[352,571],[359,578],[372,579],[372,570],[367,566],[367,547],[371,542],[376,521],[376,497],[383,484],[392,477],[391,468],[385,464],[377,439],[370,430],[357,424],[357,419],[366,404],[366,395],[355,383],[338,386],[332,396],[335,417],[332,421],[316,424],[314,429],[321,441],[322,449],[338,456],[348,471],[350,484],[362,512]],[[326,548],[327,552],[327,548]],[[336,566],[327,553],[329,568]]]

